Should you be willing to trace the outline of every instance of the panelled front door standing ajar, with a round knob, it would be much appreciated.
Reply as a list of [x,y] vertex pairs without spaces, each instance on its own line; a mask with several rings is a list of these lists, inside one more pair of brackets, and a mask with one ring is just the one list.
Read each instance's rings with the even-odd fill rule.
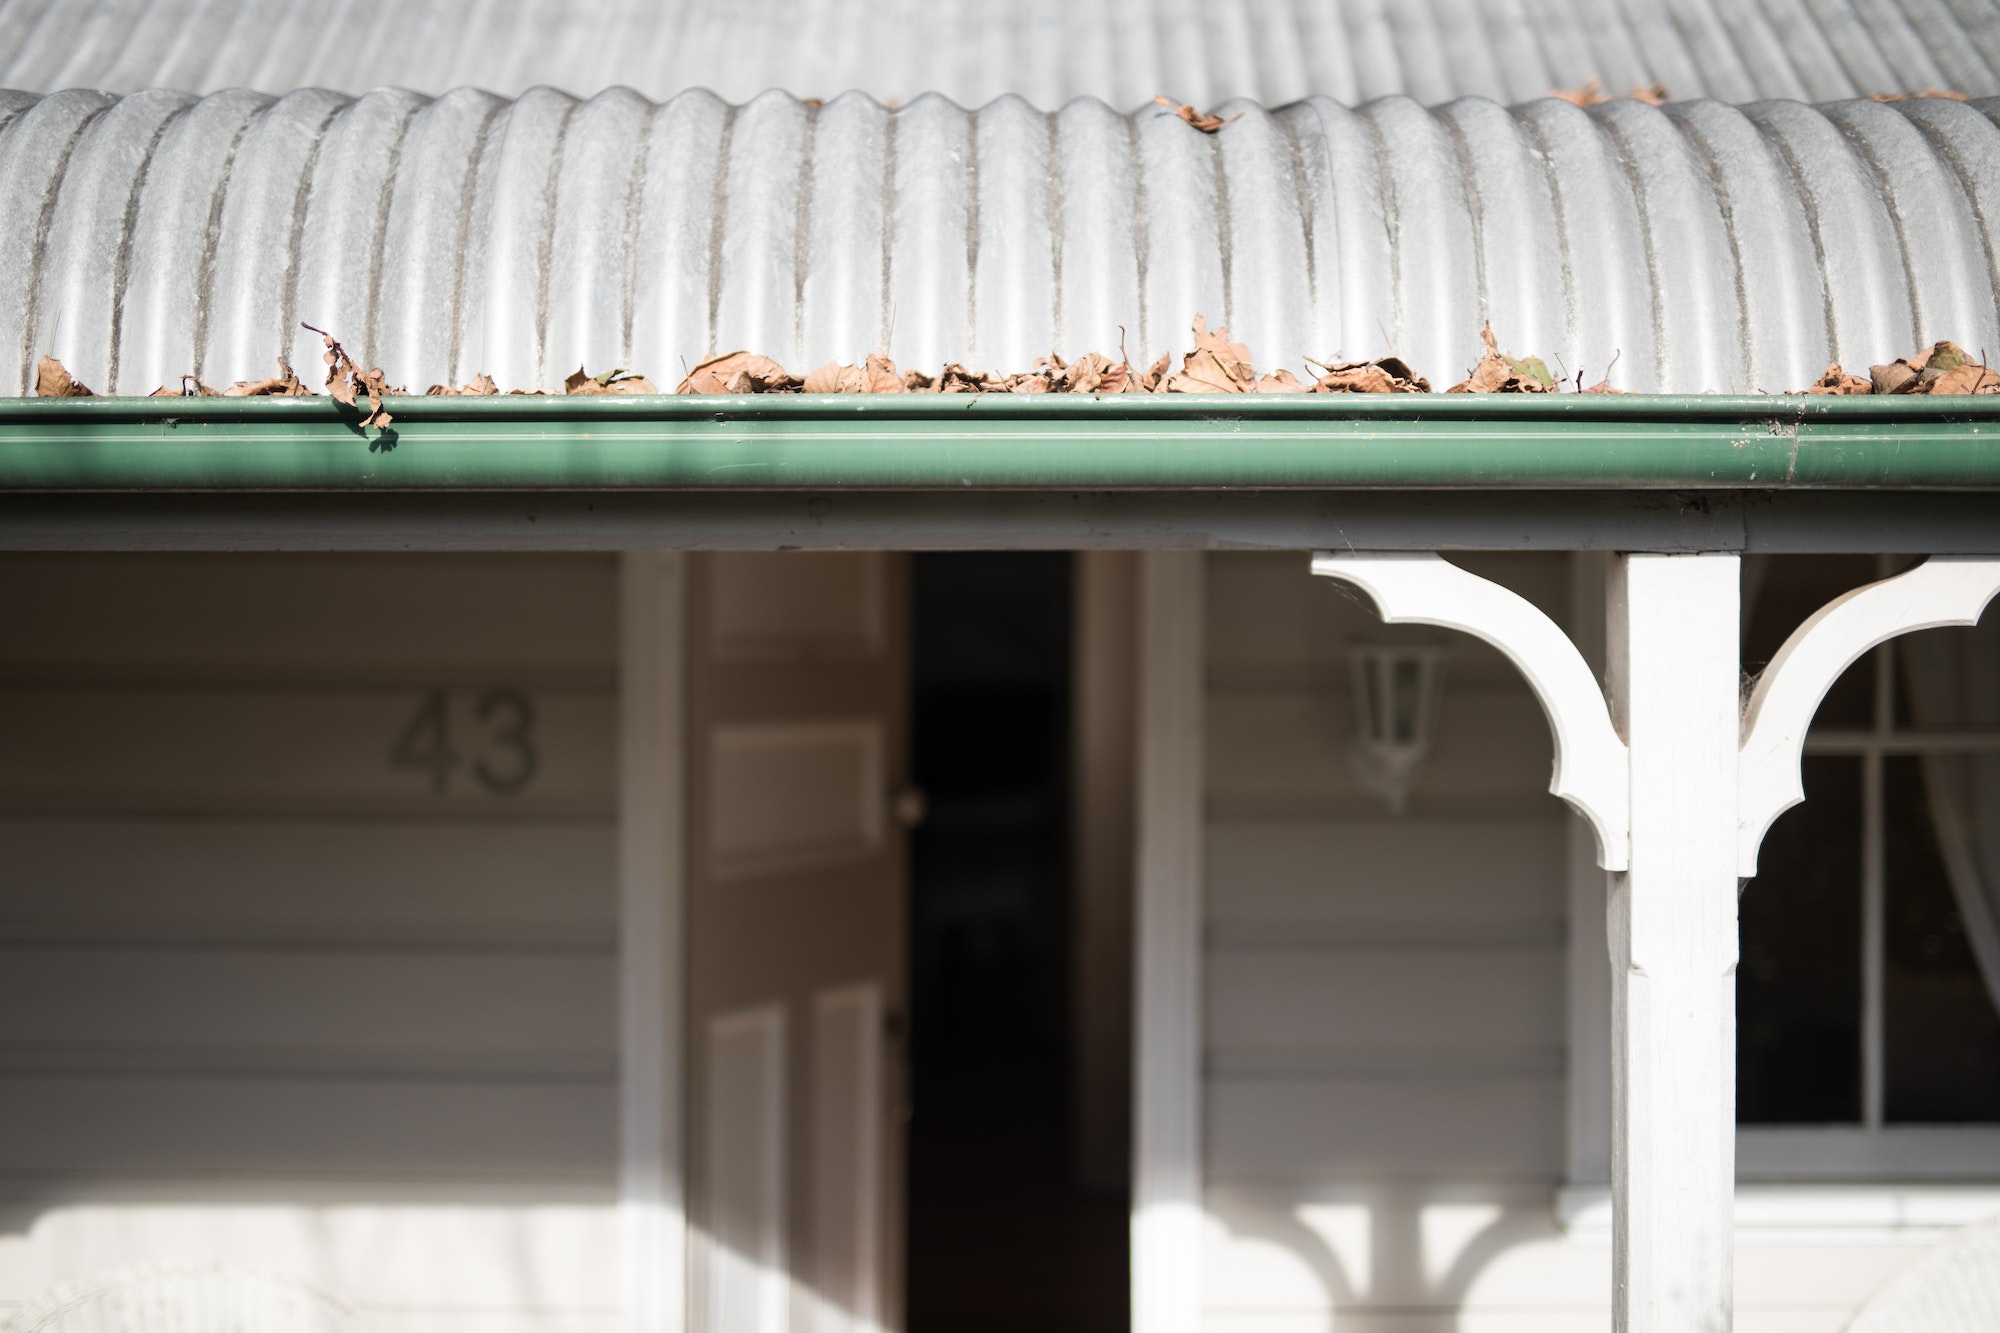
[[900,1327],[906,562],[716,552],[690,600],[694,1327]]

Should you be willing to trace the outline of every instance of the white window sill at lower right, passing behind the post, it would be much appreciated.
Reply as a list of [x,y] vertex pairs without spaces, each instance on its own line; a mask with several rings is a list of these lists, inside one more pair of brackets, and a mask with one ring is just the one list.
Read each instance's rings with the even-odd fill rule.
[[[2000,1217],[1996,1185],[1738,1185],[1738,1245],[1934,1245]],[[1556,1193],[1556,1223],[1578,1241],[1612,1237],[1610,1189]]]

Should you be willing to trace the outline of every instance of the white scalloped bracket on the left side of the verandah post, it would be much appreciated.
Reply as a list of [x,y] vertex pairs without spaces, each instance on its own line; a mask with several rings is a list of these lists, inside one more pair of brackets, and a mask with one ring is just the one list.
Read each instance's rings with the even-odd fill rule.
[[1430,550],[1312,556],[1312,572],[1352,582],[1388,624],[1440,624],[1484,638],[1528,679],[1550,731],[1556,771],[1548,791],[1576,807],[1598,835],[1598,865],[1628,869],[1630,773],[1604,689],[1584,654],[1534,602]]

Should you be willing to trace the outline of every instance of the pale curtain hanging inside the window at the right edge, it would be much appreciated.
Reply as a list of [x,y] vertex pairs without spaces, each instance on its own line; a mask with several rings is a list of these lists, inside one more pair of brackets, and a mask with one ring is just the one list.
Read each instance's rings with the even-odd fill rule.
[[[1900,640],[1920,729],[2000,731],[2000,610]],[[1928,755],[1924,785],[1986,993],[2000,1005],[2000,755]]]

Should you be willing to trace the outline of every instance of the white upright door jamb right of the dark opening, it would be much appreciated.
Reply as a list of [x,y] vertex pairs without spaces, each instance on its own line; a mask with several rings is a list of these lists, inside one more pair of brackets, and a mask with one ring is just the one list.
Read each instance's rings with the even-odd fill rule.
[[1202,683],[1198,550],[1140,556],[1132,1329],[1202,1323]]

